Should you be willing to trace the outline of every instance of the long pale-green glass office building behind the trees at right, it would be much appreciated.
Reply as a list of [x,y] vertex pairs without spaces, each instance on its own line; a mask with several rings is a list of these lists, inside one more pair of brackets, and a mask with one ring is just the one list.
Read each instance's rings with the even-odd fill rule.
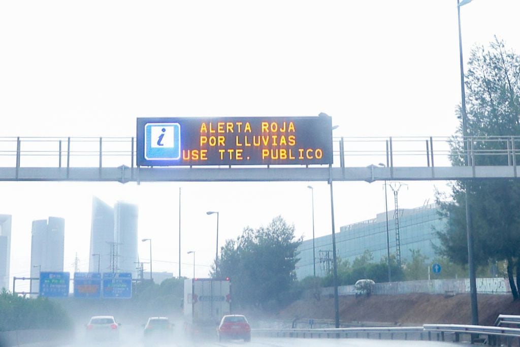
[[[399,228],[397,228],[397,222]],[[438,214],[436,204],[415,209],[388,211],[388,230],[390,252],[396,254],[396,230],[399,230],[401,261],[411,260],[411,250],[420,250],[428,260],[436,257],[433,244],[438,243],[436,230],[444,230],[446,222]],[[369,250],[373,261],[379,262],[387,254],[386,216],[379,213],[372,220],[345,225],[336,233],[336,252],[341,259],[352,264],[354,259]],[[303,279],[312,276],[313,240],[305,240],[298,247],[300,261],[296,264],[296,276]],[[316,276],[326,276],[332,271],[332,235],[315,239]]]

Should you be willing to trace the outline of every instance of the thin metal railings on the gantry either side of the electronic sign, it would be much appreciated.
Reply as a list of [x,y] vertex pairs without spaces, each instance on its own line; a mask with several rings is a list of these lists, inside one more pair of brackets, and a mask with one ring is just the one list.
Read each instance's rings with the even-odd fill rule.
[[[334,137],[334,166],[451,166],[453,157],[469,165],[492,156],[516,166],[520,136],[467,137]],[[135,137],[0,137],[0,167],[135,166]],[[461,163],[461,165],[463,165]]]

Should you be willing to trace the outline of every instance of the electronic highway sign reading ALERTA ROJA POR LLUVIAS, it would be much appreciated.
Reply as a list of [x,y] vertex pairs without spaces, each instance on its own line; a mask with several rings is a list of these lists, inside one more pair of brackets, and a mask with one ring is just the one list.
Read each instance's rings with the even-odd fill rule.
[[137,165],[332,164],[332,119],[137,118]]

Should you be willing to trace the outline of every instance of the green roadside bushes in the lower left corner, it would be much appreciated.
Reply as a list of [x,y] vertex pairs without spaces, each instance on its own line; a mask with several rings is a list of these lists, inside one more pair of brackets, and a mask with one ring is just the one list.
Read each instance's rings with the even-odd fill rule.
[[72,328],[71,319],[56,302],[22,298],[5,289],[0,292],[0,313],[0,331]]

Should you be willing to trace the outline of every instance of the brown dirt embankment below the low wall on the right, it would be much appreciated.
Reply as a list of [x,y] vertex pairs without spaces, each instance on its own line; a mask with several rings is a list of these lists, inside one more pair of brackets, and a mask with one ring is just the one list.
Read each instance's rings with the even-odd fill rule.
[[[510,295],[478,295],[482,325],[493,325],[499,314],[520,315],[520,301]],[[279,313],[279,318],[334,319],[334,299],[298,300]],[[340,297],[342,322],[385,322],[396,325],[426,323],[470,324],[470,295],[453,297],[433,294],[372,295]]]

